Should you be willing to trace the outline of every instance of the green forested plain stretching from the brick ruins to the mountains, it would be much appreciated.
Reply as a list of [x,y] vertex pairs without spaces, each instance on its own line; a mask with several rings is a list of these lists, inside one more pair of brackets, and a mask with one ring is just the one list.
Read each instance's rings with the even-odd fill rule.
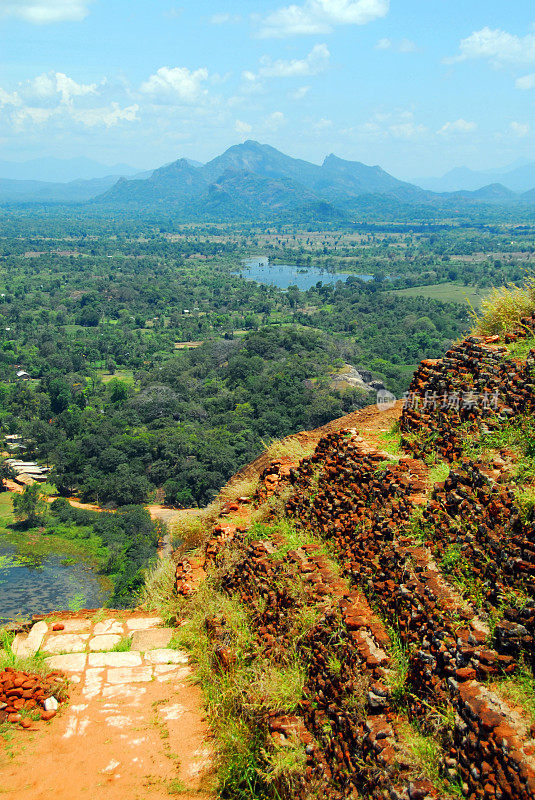
[[[117,600],[156,551],[141,506],[157,492],[204,505],[272,441],[375,402],[370,383],[401,397],[418,362],[468,329],[469,298],[522,280],[532,242],[529,226],[494,222],[317,229],[4,210],[1,434],[22,437],[16,455],[50,467],[59,495],[129,509],[113,523],[63,501],[50,512],[99,537]],[[246,280],[256,254],[344,276],[282,290]],[[367,386],[337,380],[348,367]]]

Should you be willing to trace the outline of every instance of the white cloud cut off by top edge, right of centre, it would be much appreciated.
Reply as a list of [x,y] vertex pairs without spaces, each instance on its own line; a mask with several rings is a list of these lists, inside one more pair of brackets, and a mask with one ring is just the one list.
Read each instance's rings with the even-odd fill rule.
[[336,25],[366,25],[385,17],[390,0],[306,0],[277,9],[262,22],[260,36],[330,33]]

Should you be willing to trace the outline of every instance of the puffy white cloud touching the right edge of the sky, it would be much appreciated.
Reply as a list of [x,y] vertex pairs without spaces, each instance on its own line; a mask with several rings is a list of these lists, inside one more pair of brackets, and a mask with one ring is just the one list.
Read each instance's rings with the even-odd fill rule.
[[449,63],[467,59],[487,59],[494,65],[529,64],[535,62],[535,34],[516,36],[499,28],[481,28],[462,39],[459,54]]

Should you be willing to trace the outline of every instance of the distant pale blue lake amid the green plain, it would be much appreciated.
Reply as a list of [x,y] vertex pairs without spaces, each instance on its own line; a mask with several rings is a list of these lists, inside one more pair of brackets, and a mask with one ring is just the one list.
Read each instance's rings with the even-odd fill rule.
[[[350,277],[350,273],[327,272],[320,267],[300,267],[296,264],[270,264],[269,259],[262,256],[246,258],[243,262],[243,266],[244,268],[240,274],[246,281],[265,283],[268,286],[277,286],[279,289],[287,289],[288,286],[297,286],[302,292],[311,289],[318,281],[324,284],[335,284],[338,283],[338,281],[345,282]],[[353,277],[360,278],[363,281],[371,281],[373,275],[353,275]]]

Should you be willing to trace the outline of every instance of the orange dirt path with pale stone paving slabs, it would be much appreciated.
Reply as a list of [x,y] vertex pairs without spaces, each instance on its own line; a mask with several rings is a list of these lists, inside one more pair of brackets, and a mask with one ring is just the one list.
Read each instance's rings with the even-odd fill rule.
[[[61,631],[52,627],[63,625]],[[0,793],[17,800],[212,798],[211,748],[200,690],[173,630],[138,613],[54,618],[14,647],[50,653],[70,681],[69,703],[35,732],[20,732],[0,763]],[[114,652],[124,637],[131,649]]]

